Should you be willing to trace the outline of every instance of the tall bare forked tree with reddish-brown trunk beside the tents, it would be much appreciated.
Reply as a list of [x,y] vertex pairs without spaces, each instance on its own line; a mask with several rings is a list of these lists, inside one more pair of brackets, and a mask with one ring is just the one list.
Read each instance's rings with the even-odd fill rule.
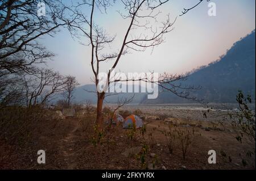
[[[202,2],[197,4],[199,5]],[[101,62],[113,61],[108,71],[108,77],[106,79],[107,84],[110,83],[110,70],[114,69],[121,57],[131,51],[144,51],[147,48],[152,48],[160,45],[164,41],[164,35],[173,30],[173,25],[176,18],[171,21],[170,15],[167,15],[166,20],[158,20],[160,12],[157,11],[159,6],[167,3],[167,1],[155,1],[155,0],[121,0],[123,11],[118,11],[119,15],[123,19],[128,20],[127,30],[123,35],[121,47],[112,53],[105,53],[108,47],[114,43],[115,36],[109,36],[108,33],[101,28],[94,21],[94,14],[96,10],[106,12],[110,6],[109,0],[92,0],[81,1],[77,5],[73,5],[69,10],[72,12],[76,20],[68,24],[69,31],[73,36],[80,38],[84,36],[88,39],[88,43],[82,43],[84,45],[90,45],[91,57],[90,64],[94,74],[94,80],[96,87],[98,86],[98,74],[100,72]],[[196,5],[196,6],[197,6]],[[88,15],[83,13],[84,6],[90,8]],[[196,7],[194,6],[194,7]],[[191,9],[193,9],[192,7]],[[185,9],[183,14],[187,13],[191,9]],[[79,19],[79,20],[78,20]],[[154,23],[152,23],[152,20]],[[155,26],[154,26],[155,25]],[[104,52],[105,50],[105,52]],[[110,64],[110,62],[109,62]],[[163,74],[158,81],[152,81],[151,79],[131,79],[130,81],[146,81],[148,83],[156,83],[164,90],[172,91],[176,95],[184,98],[195,99],[190,97],[188,92],[193,87],[183,87],[175,84],[175,81],[184,79],[183,75]],[[118,82],[121,80],[115,80]],[[129,81],[129,80],[122,80]],[[164,86],[165,84],[169,85]],[[181,92],[179,92],[181,90]],[[102,122],[102,106],[105,99],[105,92],[97,92],[97,124]]]

